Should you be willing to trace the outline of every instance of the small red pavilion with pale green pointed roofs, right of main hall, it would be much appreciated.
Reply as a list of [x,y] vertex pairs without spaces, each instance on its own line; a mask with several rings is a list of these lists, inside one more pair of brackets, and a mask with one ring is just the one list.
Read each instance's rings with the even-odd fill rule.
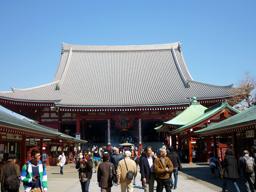
[[[229,106],[226,100],[206,108],[194,97],[188,108],[155,129],[157,132],[168,132],[170,145],[176,146],[183,152],[183,162],[207,162],[210,153],[217,155],[217,142],[227,143],[228,138],[210,136],[198,138],[195,131],[209,128],[238,113],[240,112]],[[192,150],[196,151],[196,156],[192,156]]]

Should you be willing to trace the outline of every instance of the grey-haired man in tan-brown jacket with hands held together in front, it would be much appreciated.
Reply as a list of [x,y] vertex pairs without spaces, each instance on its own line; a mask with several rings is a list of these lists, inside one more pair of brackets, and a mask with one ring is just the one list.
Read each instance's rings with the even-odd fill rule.
[[162,192],[164,187],[166,192],[171,192],[170,172],[173,170],[172,162],[166,157],[165,148],[159,149],[159,157],[155,159],[154,170],[156,173],[156,191]]

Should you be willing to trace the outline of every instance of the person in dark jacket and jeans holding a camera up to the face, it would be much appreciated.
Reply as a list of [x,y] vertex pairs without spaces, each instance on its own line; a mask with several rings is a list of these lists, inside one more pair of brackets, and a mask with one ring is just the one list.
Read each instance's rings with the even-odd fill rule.
[[83,158],[76,162],[76,169],[79,171],[79,180],[82,192],[89,192],[90,180],[92,178],[92,159],[88,157],[88,151],[83,151]]

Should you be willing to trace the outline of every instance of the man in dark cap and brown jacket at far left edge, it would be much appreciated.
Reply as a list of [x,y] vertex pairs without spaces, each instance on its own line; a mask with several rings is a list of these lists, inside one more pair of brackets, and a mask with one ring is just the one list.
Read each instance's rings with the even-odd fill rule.
[[[0,182],[1,182],[1,192],[7,192],[7,190],[4,190],[4,181],[5,181],[5,174],[8,172],[11,168],[11,166],[14,164],[14,171],[16,172],[16,176],[20,177],[20,166],[18,164],[15,164],[17,161],[17,157],[14,154],[10,154],[7,157],[7,162],[4,166],[0,168]],[[17,190],[17,192],[19,189]]]

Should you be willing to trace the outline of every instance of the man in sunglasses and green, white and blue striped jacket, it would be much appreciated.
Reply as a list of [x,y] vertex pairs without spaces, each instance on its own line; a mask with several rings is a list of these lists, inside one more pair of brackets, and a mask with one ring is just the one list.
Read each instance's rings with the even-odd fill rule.
[[21,170],[20,180],[24,183],[25,191],[47,192],[46,166],[40,160],[40,150],[33,149],[31,158]]

